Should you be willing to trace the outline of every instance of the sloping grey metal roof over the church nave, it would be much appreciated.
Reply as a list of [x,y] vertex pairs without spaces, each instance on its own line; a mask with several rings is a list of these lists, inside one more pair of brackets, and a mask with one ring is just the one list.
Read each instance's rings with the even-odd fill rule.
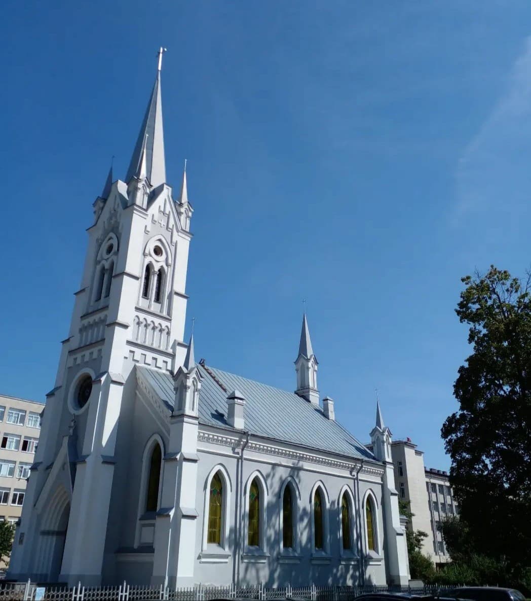
[[[210,365],[198,364],[197,367],[202,376],[199,423],[232,429],[226,423],[226,397],[237,389],[246,400],[245,429],[250,433],[345,457],[376,461],[374,455],[341,424],[327,419],[321,407],[315,407],[294,392],[273,388]],[[153,391],[169,407],[173,407],[171,374],[139,365],[136,368]]]

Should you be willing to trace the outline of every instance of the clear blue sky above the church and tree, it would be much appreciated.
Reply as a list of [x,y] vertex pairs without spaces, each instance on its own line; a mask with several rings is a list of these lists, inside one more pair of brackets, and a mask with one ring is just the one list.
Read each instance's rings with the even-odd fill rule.
[[362,441],[446,469],[469,349],[460,278],[523,275],[529,2],[2,4],[0,391],[44,399],[115,155],[163,64],[166,172],[188,159],[196,358],[294,389],[306,299],[321,396]]

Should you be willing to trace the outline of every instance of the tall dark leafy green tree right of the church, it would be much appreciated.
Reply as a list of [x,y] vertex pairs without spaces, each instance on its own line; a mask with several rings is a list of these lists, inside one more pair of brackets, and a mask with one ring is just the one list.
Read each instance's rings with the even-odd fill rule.
[[531,278],[491,266],[462,281],[456,313],[473,352],[441,430],[451,484],[476,551],[531,566]]

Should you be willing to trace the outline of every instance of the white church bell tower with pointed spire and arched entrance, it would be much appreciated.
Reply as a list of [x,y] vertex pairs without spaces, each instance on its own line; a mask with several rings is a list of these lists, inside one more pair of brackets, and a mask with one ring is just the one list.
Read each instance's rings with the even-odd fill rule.
[[111,168],[94,201],[81,285],[47,395],[10,578],[100,584],[117,433],[127,391],[135,386],[133,368],[175,373],[185,362],[193,209],[186,165],[177,198],[166,182],[164,50],[126,177],[114,180]]

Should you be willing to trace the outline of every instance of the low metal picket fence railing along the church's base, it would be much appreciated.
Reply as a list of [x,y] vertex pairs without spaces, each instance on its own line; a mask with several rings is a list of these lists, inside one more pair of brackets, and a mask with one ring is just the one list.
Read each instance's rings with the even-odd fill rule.
[[454,587],[426,585],[424,587],[399,586],[338,586],[317,587],[265,587],[256,584],[247,587],[202,586],[189,588],[142,587],[123,582],[115,587],[75,587],[50,585],[37,586],[26,583],[0,582],[0,601],[212,601],[213,599],[244,599],[255,601],[353,601],[364,593],[410,593],[418,595],[441,594]]

